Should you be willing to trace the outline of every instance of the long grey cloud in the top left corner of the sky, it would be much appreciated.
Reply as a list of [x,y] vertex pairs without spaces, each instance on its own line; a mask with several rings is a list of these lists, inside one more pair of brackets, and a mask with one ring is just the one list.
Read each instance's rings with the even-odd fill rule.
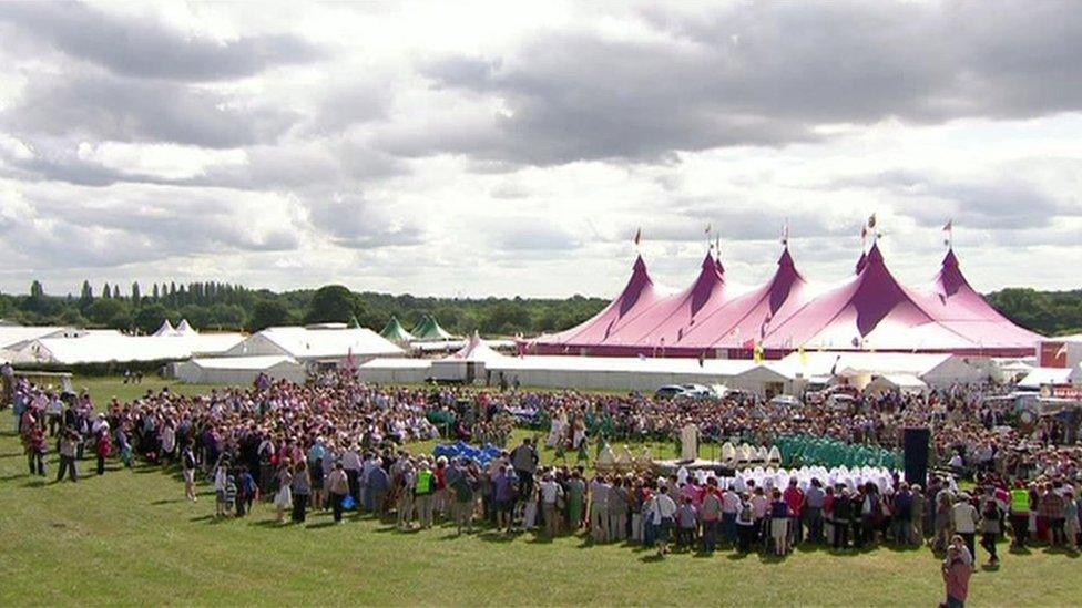
[[215,41],[188,37],[146,20],[124,21],[79,2],[6,2],[0,20],[65,54],[116,74],[185,81],[248,76],[321,55],[305,40],[284,34]]

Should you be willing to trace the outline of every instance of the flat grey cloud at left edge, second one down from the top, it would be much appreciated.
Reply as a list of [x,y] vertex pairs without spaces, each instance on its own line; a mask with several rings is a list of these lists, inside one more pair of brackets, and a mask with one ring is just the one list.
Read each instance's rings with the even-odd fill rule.
[[175,83],[39,76],[0,121],[20,135],[173,142],[227,148],[270,142],[297,116]]

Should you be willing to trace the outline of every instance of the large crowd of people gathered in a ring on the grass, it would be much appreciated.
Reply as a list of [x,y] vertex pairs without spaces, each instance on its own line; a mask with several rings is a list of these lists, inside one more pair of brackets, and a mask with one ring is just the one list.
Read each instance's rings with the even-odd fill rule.
[[[337,523],[347,514],[387,518],[401,529],[446,524],[470,533],[483,523],[501,534],[643,544],[661,556],[719,548],[785,556],[802,543],[839,552],[927,543],[972,567],[979,539],[994,566],[997,540],[1008,534],[1018,548],[1043,543],[1075,550],[1078,447],[1042,443],[1040,425],[1023,427],[981,394],[959,388],[922,398],[858,398],[846,409],[796,409],[754,398],[381,388],[328,373],[304,385],[264,377],[251,388],[200,396],[147,391],[98,409],[85,393],[58,394],[23,380],[13,403],[31,474],[45,475],[43,456],[53,442],[58,481],[79,478],[86,450],[98,458],[98,474],[113,454],[126,466],[137,456],[178,466],[191,501],[206,480],[221,517],[245,516],[263,503],[282,523],[305,522],[313,509]],[[659,477],[642,468],[596,474],[584,464],[541,466],[542,447],[530,439],[506,445],[516,420],[540,424],[545,443],[571,451],[606,440],[667,441],[687,423],[713,441],[769,444],[800,433],[897,447],[904,426],[925,425],[941,467],[912,485],[898,475],[756,485],[713,475]],[[408,449],[441,431],[504,450],[482,466]],[[973,485],[961,491],[956,474],[971,474]]]

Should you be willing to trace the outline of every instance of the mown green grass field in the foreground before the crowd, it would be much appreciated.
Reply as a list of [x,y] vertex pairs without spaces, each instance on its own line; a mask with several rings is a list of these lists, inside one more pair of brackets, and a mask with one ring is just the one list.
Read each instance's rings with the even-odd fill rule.
[[[90,388],[101,403],[163,383],[147,380],[135,392],[108,380],[75,385]],[[127,471],[111,463],[105,476],[96,477],[86,475],[93,468],[88,460],[78,484],[31,478],[11,420],[10,411],[3,412],[2,606],[935,606],[942,599],[939,559],[927,549],[847,555],[802,549],[783,560],[723,550],[657,560],[634,546],[591,546],[579,536],[550,543],[532,534],[458,537],[449,527],[400,533],[367,518],[333,526],[326,514],[314,515],[306,526],[279,527],[267,505],[243,519],[215,522],[207,487],[202,486],[198,503],[187,503],[173,471]],[[547,452],[545,460],[551,455]],[[1015,556],[1002,548],[998,571],[973,576],[971,605],[1078,605],[1082,561],[1044,549]]]

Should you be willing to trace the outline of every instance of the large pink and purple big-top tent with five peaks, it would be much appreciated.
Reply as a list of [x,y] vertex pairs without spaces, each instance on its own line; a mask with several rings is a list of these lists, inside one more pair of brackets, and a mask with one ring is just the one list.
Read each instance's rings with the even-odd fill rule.
[[895,279],[874,244],[851,280],[814,299],[788,248],[766,285],[736,298],[710,255],[695,282],[672,296],[654,289],[640,257],[604,310],[535,344],[539,352],[596,355],[751,357],[758,347],[768,357],[799,348],[1013,357],[1031,354],[1037,339],[970,287],[953,251],[930,287],[913,290]]

